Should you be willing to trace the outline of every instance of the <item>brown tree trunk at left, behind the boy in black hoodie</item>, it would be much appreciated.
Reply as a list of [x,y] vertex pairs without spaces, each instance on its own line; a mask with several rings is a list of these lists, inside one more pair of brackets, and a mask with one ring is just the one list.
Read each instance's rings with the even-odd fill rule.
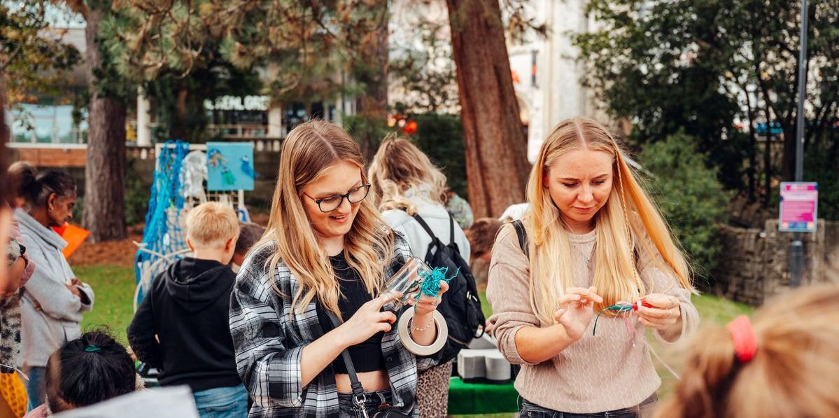
[[87,13],[86,65],[88,88],[87,160],[82,215],[92,243],[125,238],[125,103],[105,97],[97,87],[94,69],[102,66],[98,31],[104,13]]

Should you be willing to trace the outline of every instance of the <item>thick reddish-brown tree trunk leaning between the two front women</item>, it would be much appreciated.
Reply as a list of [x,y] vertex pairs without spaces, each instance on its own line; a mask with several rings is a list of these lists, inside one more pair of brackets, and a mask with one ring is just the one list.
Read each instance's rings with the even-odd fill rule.
[[446,0],[457,65],[466,181],[475,217],[498,217],[524,201],[530,170],[527,138],[498,0]]

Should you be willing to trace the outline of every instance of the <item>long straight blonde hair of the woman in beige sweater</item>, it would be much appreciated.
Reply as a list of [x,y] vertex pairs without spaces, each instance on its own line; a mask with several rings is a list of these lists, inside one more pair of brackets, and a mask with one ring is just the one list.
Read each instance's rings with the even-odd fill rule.
[[[554,128],[539,149],[527,185],[531,209],[523,219],[530,246],[530,303],[536,315],[545,322],[554,321],[561,295],[574,286],[574,282],[568,228],[550,198],[544,179],[560,155],[586,148],[612,155],[615,176],[607,202],[594,218],[597,246],[593,285],[603,296],[603,303],[597,304],[595,309],[611,306],[619,300],[637,300],[646,294],[646,286],[635,266],[636,243],[640,243],[642,248],[639,249],[647,254],[656,254],[655,250],[658,250],[667,267],[675,272],[679,285],[693,290],[684,256],[658,209],[627,165],[618,142],[600,123],[588,118],[568,119]],[[640,222],[633,222],[630,217],[633,213]],[[638,239],[648,234],[655,248],[650,248],[646,239]]]

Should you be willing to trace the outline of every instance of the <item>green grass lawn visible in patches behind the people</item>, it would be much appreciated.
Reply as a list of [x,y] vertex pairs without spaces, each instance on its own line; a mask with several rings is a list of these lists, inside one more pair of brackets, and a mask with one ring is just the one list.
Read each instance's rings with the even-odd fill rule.
[[[96,303],[92,312],[87,312],[84,320],[81,321],[82,329],[107,326],[112,333],[123,344],[126,343],[125,329],[131,322],[133,316],[132,298],[134,295],[134,269],[115,265],[104,266],[78,266],[73,269],[76,276],[90,283],[96,292]],[[480,297],[483,302],[484,314],[489,317],[491,309],[487,303],[487,295],[481,291]],[[740,314],[751,314],[753,307],[718,298],[712,295],[694,296],[693,303],[701,316],[703,324],[725,324],[731,321],[734,316]],[[652,340],[652,339],[650,339]],[[678,370],[679,353],[684,352],[684,347],[660,347],[654,343],[657,353],[667,361],[671,367]],[[659,376],[663,380],[659,395],[664,397],[670,392],[675,378],[661,367],[654,360]],[[509,418],[510,414],[495,415],[458,415],[463,418]]]

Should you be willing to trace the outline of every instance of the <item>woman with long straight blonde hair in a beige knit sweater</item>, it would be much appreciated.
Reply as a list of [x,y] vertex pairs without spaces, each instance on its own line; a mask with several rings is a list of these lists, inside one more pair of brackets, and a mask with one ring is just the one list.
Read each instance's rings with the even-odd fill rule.
[[[644,329],[675,342],[696,327],[685,258],[607,129],[557,126],[530,173],[531,205],[492,248],[487,298],[522,415],[649,416],[661,383]],[[637,315],[598,311],[644,298]],[[627,327],[625,321],[630,321]]]

